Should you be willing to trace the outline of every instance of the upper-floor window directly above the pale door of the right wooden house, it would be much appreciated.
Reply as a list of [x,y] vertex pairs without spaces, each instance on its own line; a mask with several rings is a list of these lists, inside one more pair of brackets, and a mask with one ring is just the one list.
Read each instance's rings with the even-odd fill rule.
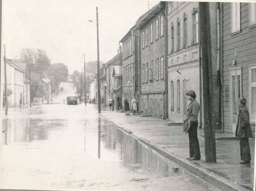
[[240,3],[231,3],[231,33],[240,31]]

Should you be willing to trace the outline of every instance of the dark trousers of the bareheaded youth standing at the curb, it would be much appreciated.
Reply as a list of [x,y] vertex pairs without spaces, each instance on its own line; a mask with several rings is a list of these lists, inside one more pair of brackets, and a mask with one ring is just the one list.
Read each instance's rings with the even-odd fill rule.
[[189,157],[201,158],[199,141],[197,138],[197,126],[198,122],[191,124],[188,129]]

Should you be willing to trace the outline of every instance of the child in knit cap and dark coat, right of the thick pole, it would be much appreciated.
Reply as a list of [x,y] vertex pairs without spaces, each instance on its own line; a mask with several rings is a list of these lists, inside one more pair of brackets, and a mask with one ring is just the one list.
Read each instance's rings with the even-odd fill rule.
[[239,99],[239,114],[237,125],[235,129],[235,136],[240,139],[240,156],[241,164],[250,163],[251,152],[249,145],[249,138],[252,138],[252,128],[250,125],[250,115],[248,108],[246,107],[246,99],[244,97]]

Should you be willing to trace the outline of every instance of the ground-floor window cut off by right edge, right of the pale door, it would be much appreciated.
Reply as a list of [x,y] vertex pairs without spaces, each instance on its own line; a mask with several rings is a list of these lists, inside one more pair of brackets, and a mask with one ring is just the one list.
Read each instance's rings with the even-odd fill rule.
[[256,66],[250,67],[250,121],[255,122],[256,115]]

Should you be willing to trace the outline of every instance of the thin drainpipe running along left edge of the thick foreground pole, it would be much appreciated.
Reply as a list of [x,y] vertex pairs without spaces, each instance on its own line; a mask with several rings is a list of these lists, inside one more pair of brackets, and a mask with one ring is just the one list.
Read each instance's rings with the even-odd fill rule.
[[[198,11],[198,18],[200,15],[200,10]],[[200,28],[200,20],[198,22],[198,28]],[[202,56],[201,56],[201,52],[202,52],[202,49],[201,49],[201,34],[198,33],[198,57],[199,57],[199,94],[200,94],[200,97],[199,97],[199,111],[200,111],[200,115],[199,115],[199,119],[200,119],[200,123],[199,123],[199,129],[202,128]]]

